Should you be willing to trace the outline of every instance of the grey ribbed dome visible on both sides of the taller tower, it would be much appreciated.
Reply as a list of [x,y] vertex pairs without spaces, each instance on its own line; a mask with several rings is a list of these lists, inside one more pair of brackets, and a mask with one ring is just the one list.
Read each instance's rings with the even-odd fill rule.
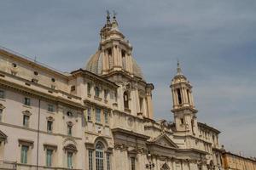
[[[139,77],[144,80],[143,72],[142,72],[140,66],[137,65],[137,62],[135,59],[133,59],[133,57],[131,57],[131,63],[132,63],[132,74],[135,77]],[[96,52],[96,54],[90,56],[90,59],[87,61],[84,69],[86,71],[90,71],[96,75],[101,76],[102,75],[102,65],[103,65],[102,53],[99,50]]]

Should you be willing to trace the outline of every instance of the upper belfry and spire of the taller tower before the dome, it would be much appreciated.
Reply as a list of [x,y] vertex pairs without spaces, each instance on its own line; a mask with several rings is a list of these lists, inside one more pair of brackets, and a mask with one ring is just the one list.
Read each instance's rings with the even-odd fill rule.
[[107,23],[101,30],[101,42],[99,49],[102,51],[102,75],[113,71],[123,71],[128,75],[133,75],[132,47],[130,42],[119,31],[119,24],[116,20],[116,14],[110,20],[110,14],[107,14]]

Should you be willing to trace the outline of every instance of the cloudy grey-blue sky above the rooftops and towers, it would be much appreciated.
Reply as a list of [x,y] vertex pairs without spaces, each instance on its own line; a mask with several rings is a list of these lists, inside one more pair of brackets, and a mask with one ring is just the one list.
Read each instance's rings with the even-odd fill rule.
[[0,45],[60,71],[83,68],[107,10],[154,83],[156,119],[172,121],[178,59],[198,121],[222,132],[226,150],[256,156],[255,0],[0,0]]

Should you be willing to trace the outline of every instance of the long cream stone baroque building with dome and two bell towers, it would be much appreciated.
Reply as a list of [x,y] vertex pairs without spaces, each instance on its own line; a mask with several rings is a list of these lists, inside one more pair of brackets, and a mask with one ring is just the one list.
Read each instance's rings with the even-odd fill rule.
[[180,65],[173,122],[154,120],[153,90],[114,15],[70,73],[0,48],[0,169],[222,169],[220,132],[198,121]]

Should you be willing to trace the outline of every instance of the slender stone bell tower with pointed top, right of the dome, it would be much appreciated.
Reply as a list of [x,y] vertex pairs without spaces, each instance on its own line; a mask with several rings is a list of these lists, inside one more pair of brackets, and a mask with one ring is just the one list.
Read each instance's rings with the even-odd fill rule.
[[177,62],[177,74],[172,78],[172,113],[177,132],[198,135],[197,118],[192,86],[183,76],[179,62]]

